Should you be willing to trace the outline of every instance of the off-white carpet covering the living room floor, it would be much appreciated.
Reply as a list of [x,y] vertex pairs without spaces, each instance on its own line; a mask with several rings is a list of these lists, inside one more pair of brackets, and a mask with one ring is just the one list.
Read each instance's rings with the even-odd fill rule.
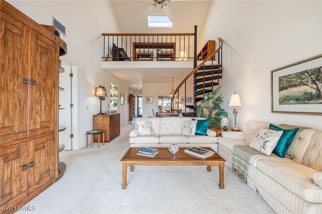
[[206,166],[128,167],[122,189],[120,160],[133,127],[121,127],[121,135],[100,149],[61,152],[62,178],[25,205],[35,210],[17,213],[275,213],[228,167],[224,189],[213,166],[211,172]]

